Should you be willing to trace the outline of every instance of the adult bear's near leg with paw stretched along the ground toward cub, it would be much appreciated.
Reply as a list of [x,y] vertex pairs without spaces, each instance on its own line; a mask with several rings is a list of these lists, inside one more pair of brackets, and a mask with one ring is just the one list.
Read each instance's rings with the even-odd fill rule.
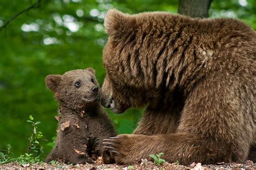
[[177,133],[121,134],[105,140],[104,147],[117,164],[130,164],[160,152],[166,161],[178,160],[184,165],[194,161],[202,164],[245,161],[255,126],[253,88],[250,84],[239,86],[242,84],[239,80],[238,84],[230,83],[227,77],[225,81],[224,84],[216,78],[201,81],[191,91]]

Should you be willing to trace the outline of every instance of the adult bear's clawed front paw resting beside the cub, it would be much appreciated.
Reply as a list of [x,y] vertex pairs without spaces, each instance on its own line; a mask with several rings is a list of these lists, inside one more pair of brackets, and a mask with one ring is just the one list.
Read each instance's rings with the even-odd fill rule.
[[129,164],[133,162],[132,146],[134,146],[134,134],[120,134],[116,137],[104,139],[104,148],[108,150],[117,164]]

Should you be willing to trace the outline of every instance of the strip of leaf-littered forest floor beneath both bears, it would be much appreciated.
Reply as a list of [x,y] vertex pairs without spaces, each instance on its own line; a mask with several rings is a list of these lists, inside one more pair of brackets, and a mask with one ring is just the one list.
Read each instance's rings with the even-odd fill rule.
[[178,165],[176,163],[170,164],[164,162],[162,165],[156,165],[154,162],[147,161],[137,162],[131,165],[116,165],[116,164],[102,164],[96,161],[95,164],[18,164],[17,162],[9,162],[8,164],[0,165],[0,169],[256,169],[256,164],[247,160],[245,164],[225,164],[220,162],[211,165],[201,165],[201,163],[193,163],[190,166]]

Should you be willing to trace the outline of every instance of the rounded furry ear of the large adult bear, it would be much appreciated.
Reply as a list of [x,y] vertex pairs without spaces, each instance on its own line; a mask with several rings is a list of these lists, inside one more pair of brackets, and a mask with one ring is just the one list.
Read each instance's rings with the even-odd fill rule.
[[110,9],[107,11],[104,26],[106,28],[106,33],[114,36],[123,36],[134,30],[136,25],[136,19],[134,16],[120,12],[116,9]]

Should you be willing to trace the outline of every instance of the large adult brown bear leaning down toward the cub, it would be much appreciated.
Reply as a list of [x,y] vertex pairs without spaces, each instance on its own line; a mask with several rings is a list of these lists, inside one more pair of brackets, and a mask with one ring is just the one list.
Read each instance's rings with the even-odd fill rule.
[[185,165],[246,160],[256,141],[256,33],[249,26],[114,9],[104,24],[102,105],[122,113],[147,104],[133,134],[105,140],[118,164],[160,152]]

